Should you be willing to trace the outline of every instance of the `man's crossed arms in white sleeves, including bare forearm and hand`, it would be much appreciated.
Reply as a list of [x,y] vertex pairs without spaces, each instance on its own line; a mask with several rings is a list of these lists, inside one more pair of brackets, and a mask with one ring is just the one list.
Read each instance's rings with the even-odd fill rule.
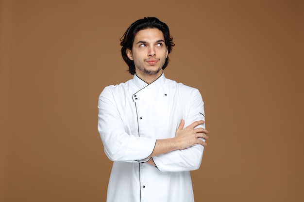
[[[129,135],[131,131],[126,133],[122,130],[130,128],[125,128],[113,95],[114,93],[106,89],[99,99],[98,130],[109,159],[156,164],[160,171],[195,170],[200,166],[203,147],[207,145],[205,140],[208,139],[208,131],[203,128],[203,101],[199,92],[196,92],[195,98],[192,98],[194,101],[189,105],[192,113],[186,116],[187,120],[180,122],[175,136],[157,140],[135,137]],[[197,114],[198,112],[200,113]],[[171,132],[174,132],[174,129]]]

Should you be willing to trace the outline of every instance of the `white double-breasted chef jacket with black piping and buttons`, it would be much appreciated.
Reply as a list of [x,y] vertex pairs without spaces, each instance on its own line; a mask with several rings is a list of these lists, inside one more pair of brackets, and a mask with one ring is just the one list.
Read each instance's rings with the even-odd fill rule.
[[[107,202],[194,202],[191,170],[200,167],[203,146],[193,145],[152,157],[156,140],[175,137],[204,120],[203,99],[192,87],[165,78],[147,84],[134,78],[104,88],[98,102],[98,130],[113,162]],[[203,127],[199,125],[198,127]]]

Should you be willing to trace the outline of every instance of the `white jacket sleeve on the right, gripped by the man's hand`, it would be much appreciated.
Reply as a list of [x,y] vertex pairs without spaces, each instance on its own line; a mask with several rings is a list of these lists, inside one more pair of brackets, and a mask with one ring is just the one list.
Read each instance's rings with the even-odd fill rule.
[[[198,90],[194,91],[188,105],[185,127],[194,121],[205,120],[203,105],[201,93]],[[205,128],[205,124],[197,127]],[[203,150],[202,145],[196,144],[183,150],[175,150],[152,158],[160,171],[192,171],[200,168]]]

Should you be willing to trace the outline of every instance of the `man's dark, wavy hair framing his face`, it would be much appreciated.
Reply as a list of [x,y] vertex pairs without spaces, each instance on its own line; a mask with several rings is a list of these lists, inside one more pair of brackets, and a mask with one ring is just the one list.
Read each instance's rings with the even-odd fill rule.
[[[157,28],[164,34],[165,44],[168,47],[168,55],[172,51],[172,47],[174,47],[173,38],[170,35],[169,27],[166,23],[161,22],[156,17],[144,17],[143,19],[136,20],[131,26],[126,30],[123,36],[120,38],[120,46],[121,46],[121,56],[123,60],[129,66],[130,74],[135,74],[135,64],[134,61],[130,60],[127,56],[127,49],[132,50],[133,42],[135,35],[138,31],[149,29],[149,28]],[[166,61],[163,65],[163,69],[165,69],[168,65],[169,57],[166,58]]]

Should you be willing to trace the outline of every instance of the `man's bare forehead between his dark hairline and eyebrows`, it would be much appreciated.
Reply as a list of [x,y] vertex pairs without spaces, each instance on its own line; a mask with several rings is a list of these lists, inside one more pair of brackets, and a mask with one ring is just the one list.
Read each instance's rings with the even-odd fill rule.
[[134,42],[145,41],[145,42],[155,42],[158,40],[165,40],[164,34],[157,28],[149,28],[145,30],[140,30],[135,34]]

